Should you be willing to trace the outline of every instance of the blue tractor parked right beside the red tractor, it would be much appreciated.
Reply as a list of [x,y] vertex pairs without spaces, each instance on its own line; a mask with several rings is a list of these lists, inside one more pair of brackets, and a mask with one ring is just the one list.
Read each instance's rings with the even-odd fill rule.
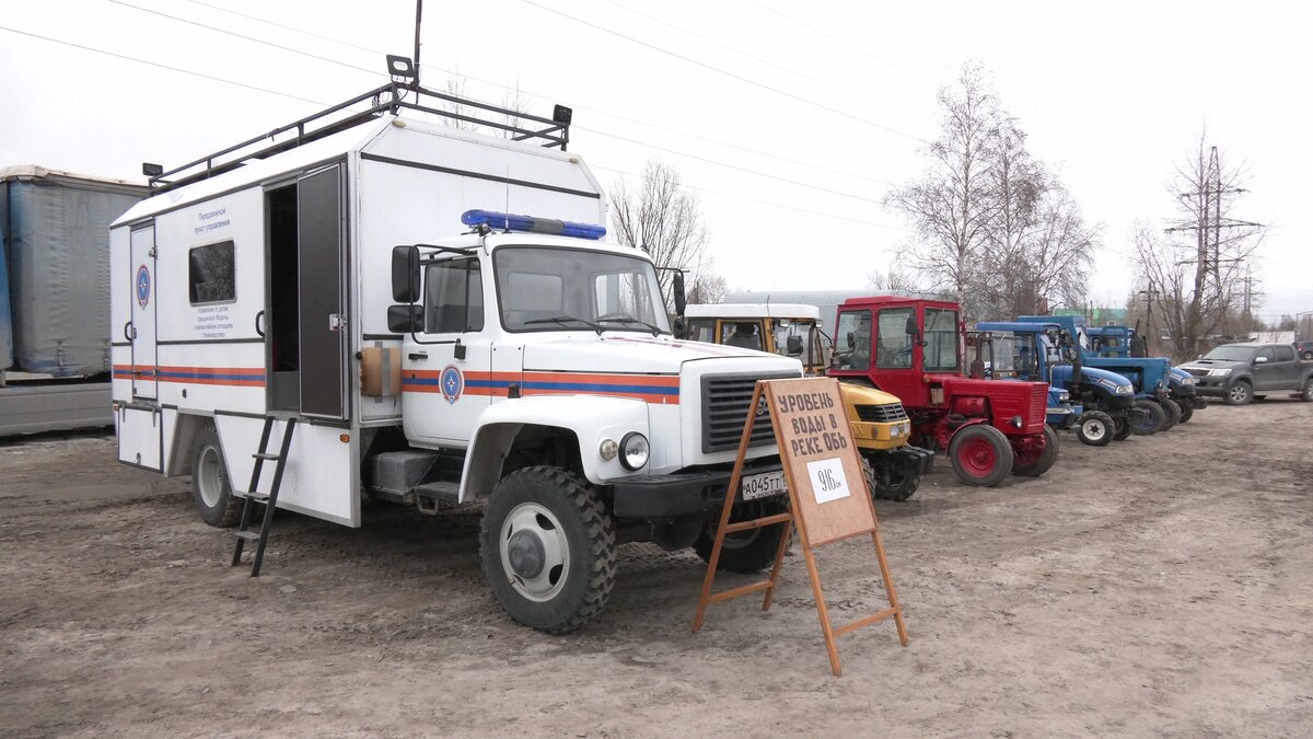
[[[1136,426],[1134,387],[1106,370],[1085,368],[1057,323],[991,321],[968,335],[968,371],[1049,384],[1049,426],[1075,429],[1090,446],[1125,439]],[[972,358],[974,356],[974,360]]]

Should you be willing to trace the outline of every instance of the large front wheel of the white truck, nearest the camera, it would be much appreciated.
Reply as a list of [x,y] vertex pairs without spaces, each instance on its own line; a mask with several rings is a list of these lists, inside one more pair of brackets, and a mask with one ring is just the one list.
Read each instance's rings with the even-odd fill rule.
[[611,598],[616,530],[579,476],[558,467],[525,467],[492,489],[479,559],[511,618],[565,634],[601,613]]

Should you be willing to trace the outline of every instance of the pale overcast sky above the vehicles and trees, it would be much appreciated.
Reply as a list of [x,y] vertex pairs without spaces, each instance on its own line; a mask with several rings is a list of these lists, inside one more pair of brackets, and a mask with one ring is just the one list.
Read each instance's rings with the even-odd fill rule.
[[[423,82],[572,107],[570,149],[604,184],[674,166],[733,289],[861,289],[910,237],[881,197],[922,171],[936,91],[979,60],[1104,226],[1098,304],[1125,302],[1132,225],[1173,218],[1166,181],[1207,129],[1247,168],[1232,216],[1267,225],[1274,320],[1313,312],[1310,8],[428,0]],[[0,0],[0,166],[140,179],[381,84],[414,21],[414,0]]]

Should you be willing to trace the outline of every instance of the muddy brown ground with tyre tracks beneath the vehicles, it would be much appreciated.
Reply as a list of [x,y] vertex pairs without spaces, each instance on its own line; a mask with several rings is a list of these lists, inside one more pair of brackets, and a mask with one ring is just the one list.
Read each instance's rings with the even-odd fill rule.
[[[911,643],[839,640],[806,569],[689,622],[691,552],[626,544],[607,611],[548,636],[483,583],[477,514],[282,515],[252,580],[189,480],[105,434],[0,442],[0,735],[1308,735],[1313,404],[1212,406],[995,489],[881,502]],[[821,550],[836,621],[869,542]],[[723,577],[729,585],[747,581]]]

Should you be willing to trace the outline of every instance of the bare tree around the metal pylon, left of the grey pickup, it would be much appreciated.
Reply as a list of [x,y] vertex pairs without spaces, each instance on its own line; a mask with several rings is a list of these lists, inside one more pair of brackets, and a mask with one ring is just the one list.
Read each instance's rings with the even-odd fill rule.
[[1161,316],[1178,359],[1250,330],[1242,316],[1246,298],[1254,308],[1247,262],[1257,258],[1262,238],[1258,224],[1230,217],[1232,195],[1242,192],[1242,179],[1243,171],[1225,166],[1200,135],[1167,183],[1179,220],[1161,233],[1141,224],[1136,233],[1141,281],[1161,296]]

